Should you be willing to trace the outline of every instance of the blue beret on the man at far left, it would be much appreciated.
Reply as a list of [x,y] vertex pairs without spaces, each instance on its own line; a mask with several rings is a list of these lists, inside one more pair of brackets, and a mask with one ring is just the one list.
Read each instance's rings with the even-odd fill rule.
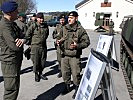
[[7,1],[4,2],[0,9],[4,12],[4,13],[8,13],[8,12],[13,12],[18,8],[18,4],[15,1]]

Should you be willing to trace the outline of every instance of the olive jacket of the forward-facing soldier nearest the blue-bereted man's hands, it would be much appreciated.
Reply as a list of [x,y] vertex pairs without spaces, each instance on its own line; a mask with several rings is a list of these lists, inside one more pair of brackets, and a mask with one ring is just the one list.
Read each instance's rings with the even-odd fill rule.
[[46,23],[42,25],[34,23],[28,28],[25,39],[31,46],[46,47],[48,35],[49,29]]

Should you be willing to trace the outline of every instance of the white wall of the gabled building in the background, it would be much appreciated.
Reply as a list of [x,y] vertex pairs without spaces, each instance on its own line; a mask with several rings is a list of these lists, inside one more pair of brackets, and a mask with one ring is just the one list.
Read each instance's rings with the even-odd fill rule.
[[[104,2],[104,0],[90,1],[91,2],[77,9],[79,21],[85,29],[96,29],[98,27],[94,25],[95,17],[93,17],[93,12],[95,12],[95,14],[98,12],[112,13],[111,19],[114,21],[115,31],[121,31],[119,25],[124,16],[133,15],[133,4],[126,0],[109,0],[109,2],[112,2],[111,7],[101,7],[101,3]],[[116,17],[117,12],[118,17]]]

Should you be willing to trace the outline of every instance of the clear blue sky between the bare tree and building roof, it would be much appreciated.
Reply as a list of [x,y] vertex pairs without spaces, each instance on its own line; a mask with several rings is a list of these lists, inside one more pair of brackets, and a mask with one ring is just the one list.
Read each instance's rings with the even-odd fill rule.
[[37,12],[73,11],[82,0],[36,0]]

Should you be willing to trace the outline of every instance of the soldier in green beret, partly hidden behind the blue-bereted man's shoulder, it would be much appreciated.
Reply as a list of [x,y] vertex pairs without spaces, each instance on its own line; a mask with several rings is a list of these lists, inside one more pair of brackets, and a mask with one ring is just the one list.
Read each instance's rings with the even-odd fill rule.
[[27,31],[27,26],[25,24],[25,21],[26,21],[26,15],[24,13],[19,13],[18,14],[18,19],[15,20],[16,24],[18,25],[18,27],[21,30],[22,37],[25,36],[26,31]]

